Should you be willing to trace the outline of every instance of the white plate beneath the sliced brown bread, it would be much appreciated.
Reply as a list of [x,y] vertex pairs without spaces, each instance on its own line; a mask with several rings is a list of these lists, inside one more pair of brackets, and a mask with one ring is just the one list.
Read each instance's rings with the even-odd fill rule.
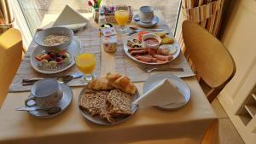
[[[86,89],[86,87],[84,87],[84,89],[82,89],[80,95],[79,95],[79,101],[82,95],[84,95],[84,90]],[[135,101],[138,97],[140,97],[138,90],[137,90],[137,94],[134,95],[133,100]],[[79,101],[78,101],[78,106],[79,106]],[[99,116],[96,117],[91,117],[90,114],[88,112],[86,112],[85,110],[81,109],[79,107],[80,112],[82,112],[82,115],[85,119],[87,119],[89,122],[94,123],[94,124],[100,124],[100,125],[113,125],[113,124],[120,124],[122,122],[124,122],[125,120],[131,118],[131,116],[137,111],[137,105],[133,105],[132,106],[132,114],[129,117],[126,118],[116,118],[116,122],[114,123],[108,123],[107,120],[103,120],[102,118],[100,118]]]

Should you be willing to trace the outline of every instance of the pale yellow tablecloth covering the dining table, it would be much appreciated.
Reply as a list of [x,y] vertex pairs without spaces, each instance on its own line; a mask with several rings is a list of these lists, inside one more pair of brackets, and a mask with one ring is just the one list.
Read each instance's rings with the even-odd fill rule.
[[[91,20],[90,14],[86,16]],[[55,14],[46,14],[42,26],[56,17]],[[115,72],[113,55],[103,49],[101,62],[102,74]],[[173,111],[138,107],[131,118],[111,126],[92,124],[83,118],[78,107],[78,97],[83,87],[72,87],[73,101],[70,107],[61,115],[48,119],[15,111],[16,107],[23,105],[29,92],[9,93],[0,109],[0,144],[119,144],[139,141],[199,144],[217,117],[196,78],[183,78],[183,81],[191,91],[185,107]],[[143,94],[143,82],[135,84],[139,93]]]

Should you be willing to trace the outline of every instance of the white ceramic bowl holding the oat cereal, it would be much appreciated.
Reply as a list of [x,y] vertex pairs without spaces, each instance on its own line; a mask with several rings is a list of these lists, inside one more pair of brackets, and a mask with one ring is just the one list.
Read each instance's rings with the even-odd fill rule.
[[[55,46],[46,46],[44,44],[44,37],[47,37],[51,34],[67,36],[69,37],[69,41],[67,41],[66,43],[55,45]],[[55,51],[55,52],[61,52],[62,50],[67,49],[68,46],[71,44],[72,40],[73,40],[73,31],[67,27],[47,28],[41,32],[37,32],[37,34],[34,37],[35,43],[37,43],[42,49],[44,49],[45,51]]]

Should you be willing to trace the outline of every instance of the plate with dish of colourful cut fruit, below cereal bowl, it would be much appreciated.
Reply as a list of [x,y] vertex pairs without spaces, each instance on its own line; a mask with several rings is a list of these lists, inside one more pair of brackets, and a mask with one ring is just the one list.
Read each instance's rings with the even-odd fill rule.
[[47,52],[37,47],[31,57],[32,67],[41,73],[53,74],[63,72],[73,66],[73,55],[67,50],[57,53],[54,51]]

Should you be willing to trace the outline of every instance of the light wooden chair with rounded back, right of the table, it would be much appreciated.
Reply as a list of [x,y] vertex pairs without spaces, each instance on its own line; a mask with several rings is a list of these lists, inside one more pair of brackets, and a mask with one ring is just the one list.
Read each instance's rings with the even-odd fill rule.
[[184,55],[212,102],[235,75],[236,64],[230,52],[207,30],[189,20],[183,22],[182,28]]

